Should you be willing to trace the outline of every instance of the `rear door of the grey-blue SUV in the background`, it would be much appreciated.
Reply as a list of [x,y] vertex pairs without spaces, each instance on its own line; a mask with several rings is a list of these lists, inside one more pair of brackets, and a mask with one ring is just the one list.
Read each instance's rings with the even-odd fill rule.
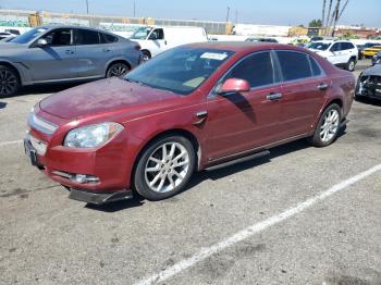
[[106,42],[102,33],[75,28],[74,45],[76,47],[77,76],[105,77],[107,63],[112,59],[112,42]]

